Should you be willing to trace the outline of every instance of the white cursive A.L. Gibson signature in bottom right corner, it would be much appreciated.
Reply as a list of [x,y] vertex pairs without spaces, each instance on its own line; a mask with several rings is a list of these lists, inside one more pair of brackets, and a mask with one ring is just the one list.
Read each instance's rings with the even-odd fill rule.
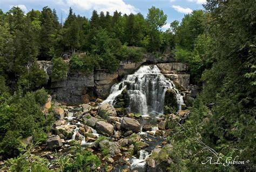
[[216,162],[213,162],[213,159],[211,156],[209,157],[206,157],[205,161],[202,161],[201,163],[202,164],[206,164],[206,163],[210,163],[210,164],[223,164],[223,166],[229,166],[229,165],[232,165],[232,164],[245,164],[246,163],[249,163],[250,161],[247,160],[247,161],[238,161],[236,159],[238,159],[239,156],[235,156],[234,159],[232,159],[232,157],[227,157],[226,158],[226,161],[225,162],[221,162],[221,160],[223,159],[221,156],[218,157],[217,161]]

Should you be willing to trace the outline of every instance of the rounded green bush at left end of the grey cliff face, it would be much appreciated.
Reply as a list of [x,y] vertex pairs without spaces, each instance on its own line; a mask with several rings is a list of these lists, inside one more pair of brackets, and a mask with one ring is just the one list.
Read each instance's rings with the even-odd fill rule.
[[51,81],[61,81],[68,77],[69,65],[61,58],[52,59]]

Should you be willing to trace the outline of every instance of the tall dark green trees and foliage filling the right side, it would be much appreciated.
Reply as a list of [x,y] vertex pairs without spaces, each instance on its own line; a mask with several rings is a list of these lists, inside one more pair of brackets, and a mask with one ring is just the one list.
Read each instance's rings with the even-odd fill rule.
[[[217,4],[217,5],[216,5]],[[204,90],[194,103],[190,117],[172,136],[171,170],[247,171],[255,168],[255,17],[253,2],[208,2],[207,32],[193,36],[193,47],[183,42],[180,59],[203,70],[198,72]],[[200,28],[201,24],[194,25]],[[181,28],[180,28],[181,29]],[[195,29],[197,30],[197,29]],[[180,53],[180,54],[179,54]],[[188,55],[184,55],[188,53]],[[198,70],[200,71],[200,70]],[[192,71],[191,71],[192,72]],[[196,72],[195,72],[196,73]],[[214,106],[208,108],[208,104]],[[227,157],[238,157],[244,165],[223,166]],[[212,157],[221,164],[201,164]]]

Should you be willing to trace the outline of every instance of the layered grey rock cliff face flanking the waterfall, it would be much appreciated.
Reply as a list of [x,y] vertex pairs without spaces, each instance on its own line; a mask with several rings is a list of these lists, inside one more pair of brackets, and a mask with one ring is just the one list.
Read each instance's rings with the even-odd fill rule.
[[[50,61],[38,61],[38,64],[51,75]],[[122,79],[124,75],[133,73],[143,64],[156,64],[161,73],[174,81],[180,90],[187,90],[190,75],[187,74],[188,68],[185,64],[176,63],[175,59],[170,57],[156,58],[147,54],[139,63],[129,60],[121,61],[116,73],[107,73],[106,70],[69,73],[66,80],[51,82],[52,97],[68,105],[87,103],[96,98],[105,99],[114,83]]]

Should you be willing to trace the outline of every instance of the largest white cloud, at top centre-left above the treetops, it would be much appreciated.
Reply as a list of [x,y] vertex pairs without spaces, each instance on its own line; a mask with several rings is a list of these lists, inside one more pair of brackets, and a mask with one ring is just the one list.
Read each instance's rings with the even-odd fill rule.
[[120,11],[122,13],[130,14],[137,13],[138,9],[130,4],[126,4],[123,0],[58,0],[57,4],[71,6],[78,10],[97,10],[98,12]]

